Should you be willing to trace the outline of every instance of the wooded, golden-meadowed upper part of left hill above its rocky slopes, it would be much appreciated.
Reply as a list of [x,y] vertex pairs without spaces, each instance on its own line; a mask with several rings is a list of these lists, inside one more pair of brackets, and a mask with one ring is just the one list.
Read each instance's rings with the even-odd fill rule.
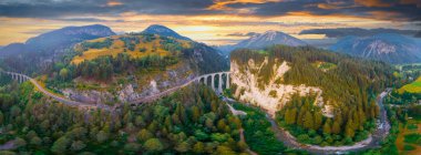
[[109,81],[113,74],[143,69],[165,70],[179,61],[191,63],[192,72],[197,74],[226,69],[224,60],[204,44],[156,34],[132,33],[101,38],[82,42],[75,45],[74,51],[76,55],[70,56],[70,62],[64,62],[69,69],[75,69],[71,74],[73,78],[82,75]]

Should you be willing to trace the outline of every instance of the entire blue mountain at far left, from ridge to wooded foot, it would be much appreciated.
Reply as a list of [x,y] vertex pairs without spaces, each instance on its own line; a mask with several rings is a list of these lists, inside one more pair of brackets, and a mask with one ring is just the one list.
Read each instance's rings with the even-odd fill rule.
[[29,75],[49,72],[70,49],[85,40],[114,35],[105,25],[65,27],[0,49],[0,66]]

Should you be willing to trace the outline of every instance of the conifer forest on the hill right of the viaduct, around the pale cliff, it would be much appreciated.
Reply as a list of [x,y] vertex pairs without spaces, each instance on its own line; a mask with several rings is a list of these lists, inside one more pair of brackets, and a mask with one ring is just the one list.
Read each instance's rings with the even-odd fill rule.
[[[261,92],[268,92],[268,84],[275,81],[271,84],[280,89],[269,90],[269,97],[277,99],[279,91],[294,85],[305,90],[305,86],[309,90],[317,87],[314,89],[317,91],[305,95],[302,92],[292,96],[284,95],[283,99],[288,97],[288,101],[276,106],[280,110],[277,120],[281,126],[287,127],[298,141],[317,145],[352,144],[366,138],[379,114],[376,96],[394,79],[393,69],[386,63],[358,60],[309,46],[277,45],[263,51],[237,50],[232,53],[232,66],[233,62],[243,72],[238,74],[256,76],[257,89]],[[320,62],[329,65],[315,65]],[[280,69],[285,74],[274,79]],[[234,92],[239,91],[237,95],[240,97],[247,93],[247,87],[236,84],[233,87]],[[317,97],[319,94],[322,97]],[[325,115],[324,111],[331,111],[332,116]]]

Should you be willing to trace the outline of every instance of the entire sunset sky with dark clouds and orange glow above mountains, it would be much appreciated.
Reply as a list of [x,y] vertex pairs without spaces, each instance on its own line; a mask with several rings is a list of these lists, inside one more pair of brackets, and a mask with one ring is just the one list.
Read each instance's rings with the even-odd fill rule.
[[164,24],[209,44],[249,32],[309,29],[421,30],[421,0],[0,0],[0,45],[68,25],[104,24],[117,33]]

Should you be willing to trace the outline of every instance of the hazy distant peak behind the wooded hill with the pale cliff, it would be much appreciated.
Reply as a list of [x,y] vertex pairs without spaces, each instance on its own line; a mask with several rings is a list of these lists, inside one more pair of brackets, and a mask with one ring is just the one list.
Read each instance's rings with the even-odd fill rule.
[[223,45],[218,46],[220,51],[225,54],[229,54],[230,51],[235,49],[263,49],[274,44],[284,44],[289,46],[300,46],[306,45],[305,41],[294,38],[289,34],[279,31],[266,31],[263,34],[255,34],[249,39],[243,40],[234,45]]

